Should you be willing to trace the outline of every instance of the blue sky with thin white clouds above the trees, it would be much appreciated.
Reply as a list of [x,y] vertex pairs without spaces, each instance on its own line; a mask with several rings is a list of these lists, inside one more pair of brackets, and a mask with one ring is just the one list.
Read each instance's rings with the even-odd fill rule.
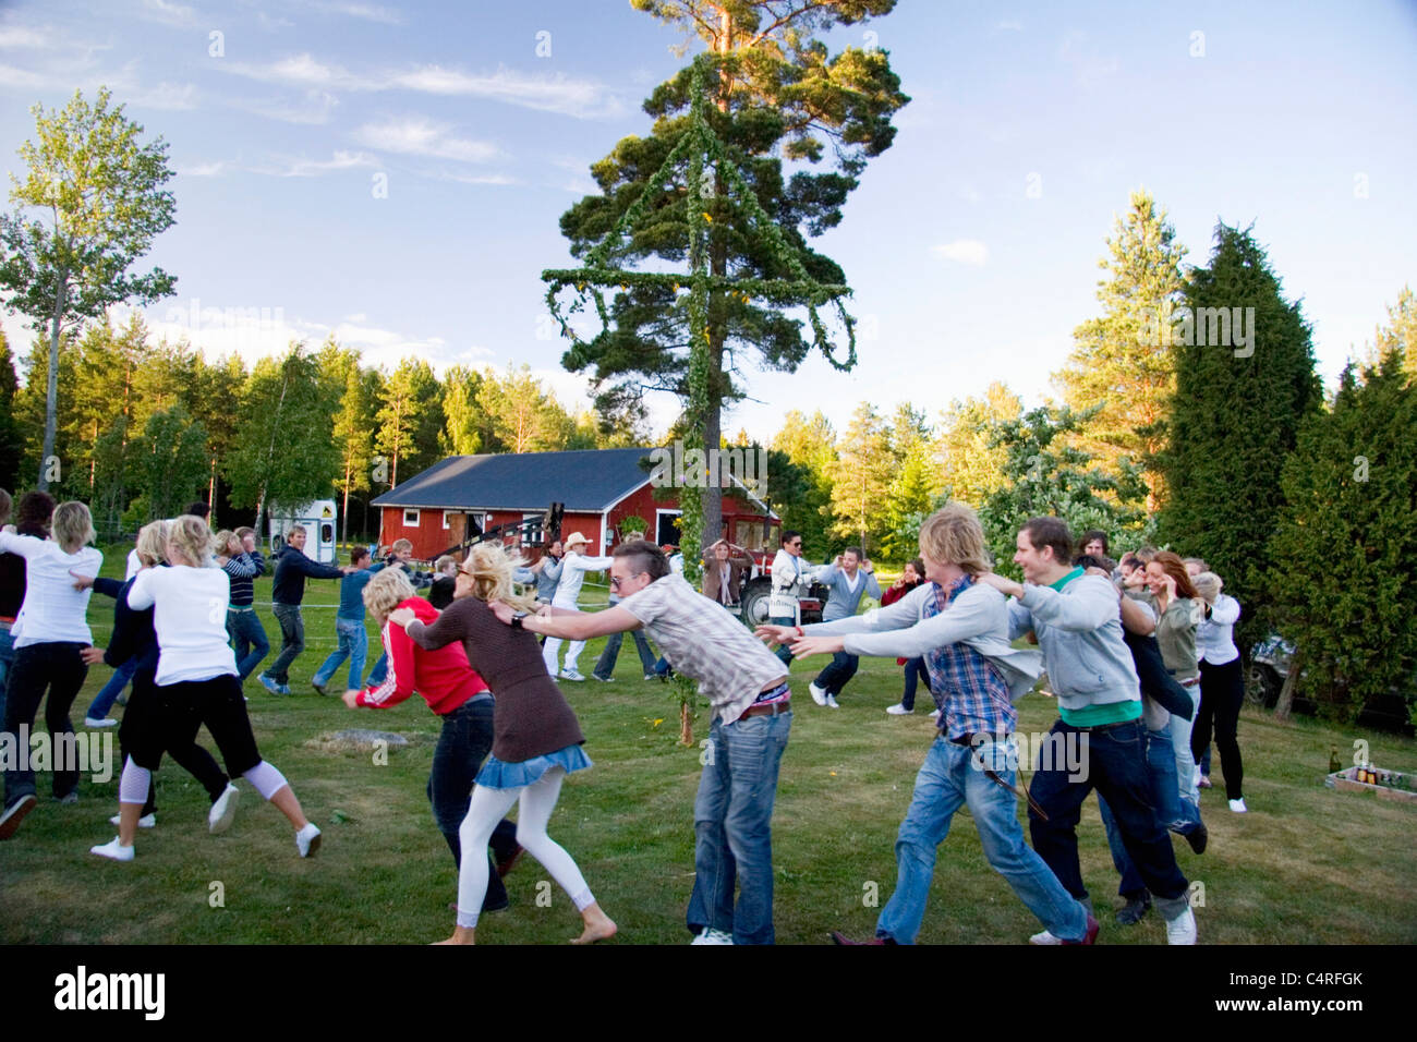
[[[860,401],[935,418],[993,380],[1056,396],[1138,189],[1190,264],[1219,221],[1254,225],[1331,384],[1417,284],[1414,0],[900,0],[826,40],[884,48],[911,96],[813,240],[854,291],[860,362],[745,364],[728,435],[768,441],[792,408],[842,431]],[[584,405],[540,272],[572,265],[558,218],[649,132],[643,98],[700,50],[682,44],[625,0],[0,0],[0,166],[20,170],[31,105],[108,85],[176,170],[154,336],[526,363]],[[3,327],[24,354],[24,320]],[[662,434],[677,405],[652,407]]]

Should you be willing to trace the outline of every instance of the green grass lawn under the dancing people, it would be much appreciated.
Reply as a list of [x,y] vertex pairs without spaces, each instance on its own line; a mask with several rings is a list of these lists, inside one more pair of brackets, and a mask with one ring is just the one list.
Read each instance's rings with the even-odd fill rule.
[[[122,574],[122,553],[108,554],[103,574]],[[604,598],[588,588],[587,600],[597,593]],[[265,578],[256,604],[273,658],[279,638],[269,597]],[[88,848],[116,831],[108,817],[118,807],[118,764],[106,783],[84,775],[79,802],[69,807],[47,798],[41,775],[40,805],[11,842],[0,844],[0,943],[422,943],[451,931],[456,873],[424,791],[438,720],[417,698],[378,712],[315,695],[309,678],[334,646],[336,603],[334,583],[309,583],[309,644],[290,672],[293,698],[268,695],[255,676],[247,683],[262,756],[324,829],[319,856],[299,859],[286,821],[245,781],[232,829],[208,835],[205,792],[166,763],[157,775],[159,827],[139,832],[136,861],[94,858]],[[89,621],[95,641],[106,642],[112,601],[95,595]],[[366,669],[377,655],[373,627],[370,639]],[[589,675],[602,644],[589,644],[581,672]],[[792,671],[796,713],[774,818],[777,934],[789,944],[826,943],[833,929],[870,936],[874,904],[887,900],[896,880],[896,829],[934,736],[928,705],[910,717],[886,715],[901,690],[894,659],[863,659],[839,710],[820,709],[806,695],[823,662]],[[91,671],[77,720],[108,676],[106,668]],[[332,690],[343,679],[344,671]],[[595,768],[567,781],[550,832],[580,863],[622,941],[684,943],[700,767],[699,750],[677,744],[670,688],[642,679],[628,639],[614,683],[561,686]],[[1020,703],[1019,730],[1046,732],[1056,713],[1051,699],[1030,695]],[[393,730],[412,744],[390,750],[387,766],[367,753],[319,747],[319,736],[344,727]],[[701,710],[696,734],[706,733]],[[1348,763],[1357,737],[1367,739],[1379,767],[1417,770],[1411,740],[1304,719],[1280,724],[1268,713],[1244,712],[1250,812],[1226,807],[1217,756],[1217,788],[1202,794],[1210,848],[1196,856],[1175,841],[1182,870],[1204,885],[1204,906],[1196,909],[1203,944],[1417,941],[1410,870],[1417,805],[1322,784],[1329,750],[1336,746]],[[201,741],[215,751],[205,732]],[[1084,807],[1080,849],[1102,920],[1100,940],[1163,944],[1155,914],[1135,927],[1112,921],[1117,873],[1095,800]],[[483,917],[479,940],[551,944],[578,933],[570,899],[534,861],[517,866],[507,889],[512,909]],[[1039,929],[989,869],[962,809],[939,848],[921,941],[1016,944]]]

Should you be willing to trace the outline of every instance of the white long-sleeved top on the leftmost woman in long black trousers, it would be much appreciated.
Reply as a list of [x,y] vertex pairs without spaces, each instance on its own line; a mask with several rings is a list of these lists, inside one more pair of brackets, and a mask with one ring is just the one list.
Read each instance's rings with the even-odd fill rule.
[[10,627],[16,648],[52,641],[94,644],[88,628],[88,598],[92,590],[75,590],[74,568],[92,578],[103,567],[103,554],[92,546],[64,553],[51,539],[0,532],[0,553],[24,557],[24,604]]

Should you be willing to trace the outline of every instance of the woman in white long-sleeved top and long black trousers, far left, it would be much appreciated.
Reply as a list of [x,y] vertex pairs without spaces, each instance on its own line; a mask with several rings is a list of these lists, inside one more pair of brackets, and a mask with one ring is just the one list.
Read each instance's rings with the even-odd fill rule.
[[[60,503],[54,508],[50,539],[16,536],[0,532],[0,553],[24,557],[24,604],[10,628],[14,639],[14,665],[7,682],[4,730],[28,743],[34,717],[44,700],[44,723],[55,749],[74,749],[74,724],[69,707],[84,686],[88,665],[82,649],[92,644],[85,612],[88,590],[74,588],[74,574],[96,576],[103,564],[88,543],[94,539],[94,520],[84,503]],[[69,574],[69,573],[74,574]],[[78,801],[79,773],[75,757],[55,763],[54,798]],[[4,812],[0,814],[0,839],[9,839],[20,821],[38,801],[34,795],[34,771],[28,761],[4,773]]]

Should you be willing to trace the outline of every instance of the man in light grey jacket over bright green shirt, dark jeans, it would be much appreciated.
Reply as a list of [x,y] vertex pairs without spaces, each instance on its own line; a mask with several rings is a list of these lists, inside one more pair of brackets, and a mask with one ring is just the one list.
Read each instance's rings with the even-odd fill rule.
[[[1151,807],[1141,685],[1122,639],[1119,594],[1107,578],[1070,567],[1071,559],[1067,523],[1033,517],[1019,530],[1013,554],[1023,583],[993,573],[979,577],[1012,598],[1009,637],[1016,639],[1029,631],[1037,637],[1058,703],[1058,719],[1049,734],[1058,736],[1058,743],[1087,741],[1088,749],[1088,773],[1083,778],[1057,763],[1063,757],[1040,761],[1034,771],[1029,785],[1033,849],[1067,892],[1090,907],[1077,856],[1077,825],[1083,801],[1095,788],[1111,807],[1127,853],[1166,919],[1168,943],[1195,944],[1189,883]],[[1030,940],[1058,943],[1047,930]]]

